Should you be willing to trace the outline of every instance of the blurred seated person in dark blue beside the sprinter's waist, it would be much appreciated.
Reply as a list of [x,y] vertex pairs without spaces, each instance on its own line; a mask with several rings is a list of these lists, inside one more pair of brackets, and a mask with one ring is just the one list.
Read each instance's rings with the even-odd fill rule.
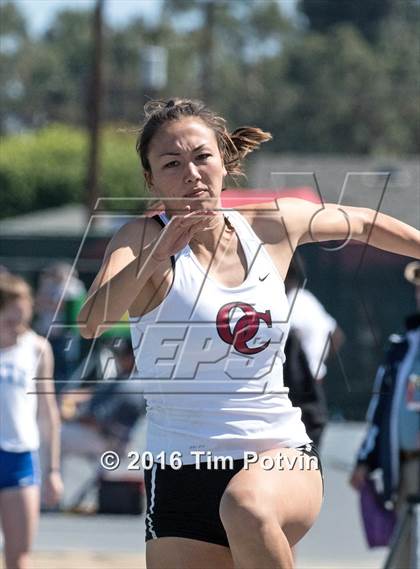
[[61,430],[63,463],[69,455],[99,459],[105,450],[121,450],[146,412],[144,397],[130,379],[135,370],[131,342],[121,339],[112,351],[116,377],[84,393],[63,394],[62,416],[68,419]]

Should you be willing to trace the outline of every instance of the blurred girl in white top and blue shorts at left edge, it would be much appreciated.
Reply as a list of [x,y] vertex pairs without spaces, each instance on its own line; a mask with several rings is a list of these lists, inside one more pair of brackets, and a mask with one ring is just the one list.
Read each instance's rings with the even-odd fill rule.
[[[37,415],[47,426],[45,500],[62,492],[60,419],[51,346],[30,327],[32,293],[10,273],[0,274],[0,521],[7,569],[27,569],[40,504]],[[38,379],[38,381],[35,381]],[[44,434],[44,433],[43,433]]]

